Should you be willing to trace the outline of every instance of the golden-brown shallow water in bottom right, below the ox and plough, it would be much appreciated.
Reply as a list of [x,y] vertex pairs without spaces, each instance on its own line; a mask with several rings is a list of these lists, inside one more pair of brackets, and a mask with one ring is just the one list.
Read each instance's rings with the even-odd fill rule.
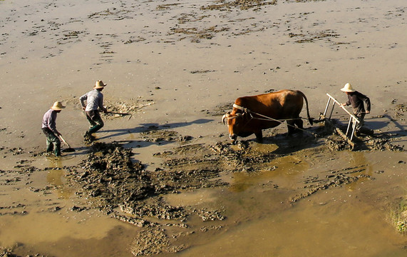
[[[391,209],[383,203],[388,193],[405,192],[406,170],[396,164],[397,157],[388,160],[393,167],[377,163],[376,157],[369,153],[338,153],[339,161],[334,163],[314,158],[312,161],[321,163],[316,166],[306,163],[306,159],[293,166],[298,159],[282,158],[270,163],[278,165],[275,171],[235,176],[217,201],[227,206],[230,218],[236,219],[238,225],[180,256],[405,256],[406,238],[388,226]],[[332,188],[287,205],[287,191],[295,191],[304,176],[339,163],[366,165],[366,174],[380,171],[383,166],[386,172],[374,176],[374,181]],[[389,185],[394,180],[401,183]],[[264,188],[270,181],[279,187]]]

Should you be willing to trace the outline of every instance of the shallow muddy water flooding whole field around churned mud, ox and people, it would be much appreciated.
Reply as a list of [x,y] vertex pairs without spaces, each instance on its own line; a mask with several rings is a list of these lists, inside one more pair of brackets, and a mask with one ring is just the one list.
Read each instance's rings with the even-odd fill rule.
[[[394,107],[407,97],[401,57],[407,53],[406,1],[200,9],[210,4],[0,1],[1,248],[19,256],[133,256],[143,228],[89,208],[88,198],[78,198],[78,188],[67,183],[66,167],[81,163],[89,148],[82,141],[88,124],[78,96],[96,79],[108,83],[103,93],[110,103],[154,103],[132,119],[106,121],[97,134],[100,141],[132,148],[134,161],[148,171],[163,168],[154,153],[181,144],[148,140],[141,133],[150,126],[213,146],[226,138],[219,123],[226,110],[215,116],[208,111],[271,89],[304,91],[317,117],[326,92],[343,101],[339,89],[351,82],[371,97],[366,124],[405,145],[405,118]],[[76,152],[62,160],[31,156],[43,151],[38,124],[56,100],[67,105],[58,129]],[[267,133],[286,131],[280,126]],[[250,141],[253,151],[276,156],[258,170],[225,161],[228,172],[220,178],[228,186],[163,196],[174,206],[212,208],[227,218],[202,222],[191,216],[190,230],[181,229],[188,236],[176,242],[186,249],[161,256],[406,256],[406,237],[391,221],[391,204],[406,196],[405,153],[329,151],[317,148],[326,142],[303,147],[299,141]],[[38,169],[21,172],[19,165]],[[344,168],[358,171],[347,176],[364,176],[291,201],[311,181],[325,183]],[[72,211],[78,206],[85,209]]]

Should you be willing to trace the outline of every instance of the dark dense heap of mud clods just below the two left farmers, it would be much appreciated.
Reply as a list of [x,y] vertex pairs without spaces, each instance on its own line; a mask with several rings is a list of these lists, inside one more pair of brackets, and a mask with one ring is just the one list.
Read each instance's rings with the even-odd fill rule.
[[81,163],[83,171],[68,174],[91,196],[94,206],[105,213],[130,201],[153,195],[155,188],[143,173],[141,163],[133,163],[131,149],[115,143],[94,143],[88,158]]

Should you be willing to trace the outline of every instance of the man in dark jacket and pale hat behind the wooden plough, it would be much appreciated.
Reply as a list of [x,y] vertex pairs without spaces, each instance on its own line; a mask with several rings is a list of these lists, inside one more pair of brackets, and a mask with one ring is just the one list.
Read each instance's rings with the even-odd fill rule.
[[[370,99],[369,97],[365,96],[364,94],[359,93],[355,89],[352,88],[351,84],[346,83],[341,91],[345,92],[348,96],[348,101],[346,103],[341,104],[341,106],[349,106],[351,105],[354,109],[354,115],[359,120],[359,124],[356,123],[356,135],[359,135],[359,131],[361,127],[364,125],[364,117],[366,114],[370,114]],[[366,104],[366,111],[364,108],[364,104]]]

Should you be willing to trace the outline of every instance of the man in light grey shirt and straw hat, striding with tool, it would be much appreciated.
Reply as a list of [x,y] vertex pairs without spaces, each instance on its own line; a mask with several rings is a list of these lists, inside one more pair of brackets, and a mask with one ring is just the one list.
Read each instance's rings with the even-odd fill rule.
[[105,109],[105,106],[103,106],[102,91],[105,86],[107,86],[107,84],[103,84],[103,81],[98,80],[96,81],[95,86],[93,86],[93,90],[84,94],[79,99],[81,101],[83,110],[86,111],[86,118],[91,125],[89,130],[85,133],[85,138],[88,138],[91,141],[95,139],[94,136],[92,136],[92,133],[102,129],[104,125],[98,109],[101,109],[105,113],[108,111]]

